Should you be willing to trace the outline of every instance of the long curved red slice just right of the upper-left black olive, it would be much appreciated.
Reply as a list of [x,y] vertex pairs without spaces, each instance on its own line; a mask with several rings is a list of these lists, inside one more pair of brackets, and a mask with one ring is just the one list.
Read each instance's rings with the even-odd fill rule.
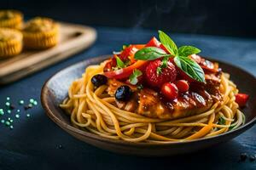
[[[108,78],[124,79],[130,77],[134,69],[141,69],[148,61],[146,60],[137,60],[134,64],[129,65],[123,69],[117,71],[105,71],[104,74]],[[108,65],[108,63],[106,64]],[[105,70],[105,69],[104,69]]]

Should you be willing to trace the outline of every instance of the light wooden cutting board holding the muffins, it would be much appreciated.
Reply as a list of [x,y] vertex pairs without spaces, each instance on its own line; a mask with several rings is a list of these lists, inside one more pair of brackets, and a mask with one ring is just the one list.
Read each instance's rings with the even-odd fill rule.
[[96,41],[96,30],[90,26],[60,23],[60,42],[54,48],[24,50],[9,59],[0,59],[0,84],[14,82],[79,51]]

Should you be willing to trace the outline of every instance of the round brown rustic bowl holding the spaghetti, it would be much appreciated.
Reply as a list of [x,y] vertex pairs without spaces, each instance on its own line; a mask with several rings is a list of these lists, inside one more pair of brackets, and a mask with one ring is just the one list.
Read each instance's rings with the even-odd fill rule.
[[88,65],[98,64],[108,57],[109,55],[104,55],[101,57],[85,59],[75,65],[71,65],[62,71],[55,73],[54,76],[50,77],[49,80],[44,83],[44,87],[42,88],[41,102],[47,116],[67,133],[70,133],[75,138],[80,139],[87,144],[94,145],[103,150],[132,156],[172,156],[201,150],[210,147],[213,144],[219,144],[233,139],[248,128],[253,127],[253,124],[256,122],[256,78],[239,67],[211,59],[217,61],[223,71],[230,73],[231,80],[236,83],[242,93],[250,95],[247,107],[243,109],[246,116],[246,123],[235,130],[209,138],[195,139],[186,142],[149,144],[107,139],[94,133],[82,131],[79,128],[73,127],[69,117],[61,110],[59,105],[61,104],[61,101],[67,97],[67,89],[70,84],[75,79],[81,77],[84,69]]

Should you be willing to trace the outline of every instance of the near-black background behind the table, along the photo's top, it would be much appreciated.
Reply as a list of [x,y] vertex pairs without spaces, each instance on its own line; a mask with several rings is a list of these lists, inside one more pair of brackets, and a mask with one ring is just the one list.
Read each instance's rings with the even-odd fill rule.
[[94,26],[256,37],[253,0],[2,0],[0,8]]

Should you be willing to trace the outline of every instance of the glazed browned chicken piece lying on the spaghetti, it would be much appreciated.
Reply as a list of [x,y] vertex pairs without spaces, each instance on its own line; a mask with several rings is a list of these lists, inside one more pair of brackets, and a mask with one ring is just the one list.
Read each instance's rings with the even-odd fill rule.
[[219,84],[219,77],[210,76],[207,81],[211,82],[207,85],[191,84],[189,92],[180,94],[177,99],[171,102],[163,99],[159,93],[151,88],[137,90],[136,86],[117,80],[108,80],[107,91],[113,96],[119,86],[128,85],[133,91],[133,95],[126,102],[116,100],[116,105],[120,109],[137,112],[137,114],[152,118],[175,119],[207,111],[214,101],[222,99],[217,85]]

